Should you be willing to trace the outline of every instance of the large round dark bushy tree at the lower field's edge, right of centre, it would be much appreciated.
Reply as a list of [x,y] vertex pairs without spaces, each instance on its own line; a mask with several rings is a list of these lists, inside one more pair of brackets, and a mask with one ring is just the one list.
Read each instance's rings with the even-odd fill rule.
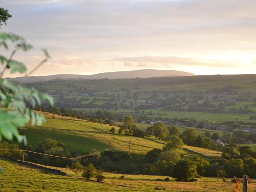
[[175,167],[173,177],[177,181],[191,181],[197,176],[197,165],[190,160],[181,160]]

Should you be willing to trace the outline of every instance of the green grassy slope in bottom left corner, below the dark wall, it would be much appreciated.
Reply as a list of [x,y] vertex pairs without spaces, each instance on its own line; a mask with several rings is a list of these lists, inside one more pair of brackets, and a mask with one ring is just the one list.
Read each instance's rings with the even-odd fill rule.
[[[71,176],[47,174],[0,159],[4,173],[0,175],[1,191],[138,191],[119,186],[87,182]],[[43,186],[45,188],[43,188]]]

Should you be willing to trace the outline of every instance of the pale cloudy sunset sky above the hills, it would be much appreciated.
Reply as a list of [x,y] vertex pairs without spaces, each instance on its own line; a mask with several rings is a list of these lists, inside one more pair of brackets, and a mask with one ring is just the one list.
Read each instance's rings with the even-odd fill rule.
[[43,58],[41,48],[51,55],[35,76],[256,73],[255,0],[0,0],[0,7],[12,15],[0,30],[34,47],[16,60],[30,71]]

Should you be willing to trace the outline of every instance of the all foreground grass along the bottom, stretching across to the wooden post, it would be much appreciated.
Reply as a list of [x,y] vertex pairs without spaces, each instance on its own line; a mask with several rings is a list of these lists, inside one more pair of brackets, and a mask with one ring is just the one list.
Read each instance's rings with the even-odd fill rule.
[[[74,172],[66,168],[58,168],[67,173],[67,176],[53,175],[41,170],[27,166],[21,166],[9,160],[0,159],[0,165],[4,167],[5,173],[0,175],[1,191],[147,191],[144,189],[127,188],[116,185],[101,184],[96,182],[84,181],[80,177],[75,177]],[[55,167],[51,167],[55,168]],[[233,183],[231,179],[223,183],[220,178],[199,178],[197,182],[177,182],[173,178],[171,181],[157,181],[167,176],[154,175],[124,175],[125,179],[120,177],[123,174],[104,173],[105,181],[113,181],[114,183],[122,183],[125,185],[148,185],[170,189],[168,191],[183,190],[205,190],[217,188],[218,192],[232,191]],[[45,189],[42,189],[42,186]],[[249,187],[255,188],[256,181],[251,181]]]

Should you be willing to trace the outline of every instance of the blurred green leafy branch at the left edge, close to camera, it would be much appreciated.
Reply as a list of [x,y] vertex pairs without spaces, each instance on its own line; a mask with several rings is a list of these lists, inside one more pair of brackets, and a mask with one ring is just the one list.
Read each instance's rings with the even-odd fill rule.
[[24,74],[24,77],[28,77],[44,64],[50,56],[46,50],[43,50],[45,58],[27,73],[26,66],[13,58],[18,51],[29,51],[32,46],[18,35],[0,33],[0,48],[8,51],[9,44],[13,44],[15,47],[10,56],[5,57],[0,54],[0,65],[3,66],[0,73],[0,141],[3,138],[7,140],[16,138],[18,142],[23,141],[26,144],[26,137],[20,135],[17,128],[24,126],[26,123],[30,123],[32,126],[42,125],[45,122],[44,116],[32,109],[35,106],[40,106],[44,100],[53,105],[53,98],[46,93],[38,92],[34,88],[27,88],[21,82],[11,82],[3,79],[3,75],[6,70],[9,70],[11,74],[18,72]]

